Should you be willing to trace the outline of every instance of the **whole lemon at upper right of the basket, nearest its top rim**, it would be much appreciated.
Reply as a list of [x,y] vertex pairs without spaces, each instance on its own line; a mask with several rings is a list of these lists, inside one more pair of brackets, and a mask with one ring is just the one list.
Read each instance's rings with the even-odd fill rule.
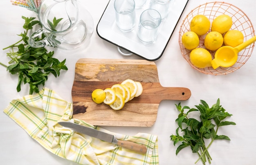
[[219,33],[223,34],[229,31],[232,23],[232,18],[230,16],[226,14],[220,15],[211,23],[211,31],[218,31]]

